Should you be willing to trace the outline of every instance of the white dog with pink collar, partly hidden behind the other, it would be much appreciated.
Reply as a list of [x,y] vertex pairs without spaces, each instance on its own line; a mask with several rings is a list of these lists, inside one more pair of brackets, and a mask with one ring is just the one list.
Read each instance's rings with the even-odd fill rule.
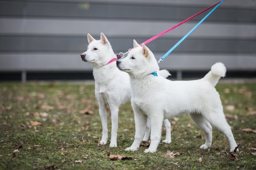
[[[81,58],[86,63],[91,63],[93,66],[93,77],[95,79],[95,96],[99,104],[99,113],[102,124],[102,138],[100,144],[106,144],[108,140],[108,125],[107,125],[107,109],[111,111],[111,139],[110,147],[116,147],[117,127],[118,127],[118,107],[131,99],[131,85],[129,75],[118,70],[116,62],[109,63],[110,60],[116,58],[115,53],[107,39],[101,33],[100,40],[95,40],[90,34],[87,34],[88,48],[87,51],[81,54]],[[161,70],[160,73],[165,78],[170,75],[167,70]],[[149,119],[148,119],[149,120]],[[171,123],[164,120],[166,128],[166,139],[164,143],[171,143]],[[145,124],[144,141],[148,141],[150,132],[150,122]]]

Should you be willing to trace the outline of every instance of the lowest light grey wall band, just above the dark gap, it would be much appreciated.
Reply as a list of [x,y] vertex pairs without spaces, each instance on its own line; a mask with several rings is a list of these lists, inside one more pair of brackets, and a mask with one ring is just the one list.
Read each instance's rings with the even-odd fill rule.
[[[158,59],[162,54],[155,53]],[[171,54],[159,66],[168,70],[210,70],[216,62],[223,62],[231,70],[256,70],[253,55],[229,54]],[[92,70],[77,54],[0,54],[0,71],[67,71]]]

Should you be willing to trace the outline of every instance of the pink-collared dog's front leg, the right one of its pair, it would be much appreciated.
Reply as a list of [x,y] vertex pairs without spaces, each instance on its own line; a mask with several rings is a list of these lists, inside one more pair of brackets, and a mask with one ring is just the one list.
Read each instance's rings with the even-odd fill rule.
[[110,139],[110,147],[117,147],[117,128],[118,128],[118,105],[110,106],[111,111],[111,139]]

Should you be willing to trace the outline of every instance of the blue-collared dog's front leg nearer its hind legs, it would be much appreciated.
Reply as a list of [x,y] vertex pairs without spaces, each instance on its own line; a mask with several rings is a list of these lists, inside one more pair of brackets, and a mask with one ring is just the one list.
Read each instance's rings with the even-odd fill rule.
[[157,146],[161,139],[161,131],[164,116],[161,113],[155,115],[150,114],[149,119],[151,122],[151,135],[149,148],[144,151],[146,153],[156,152]]

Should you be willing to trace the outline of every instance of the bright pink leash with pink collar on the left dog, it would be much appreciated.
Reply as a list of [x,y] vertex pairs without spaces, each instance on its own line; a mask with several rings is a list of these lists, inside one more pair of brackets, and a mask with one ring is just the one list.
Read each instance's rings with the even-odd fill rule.
[[[221,1],[220,1],[220,2],[221,2]],[[140,44],[140,46],[142,46],[143,43],[144,43],[144,44],[148,44],[149,42],[151,42],[151,41],[153,41],[153,40],[155,40],[155,39],[161,37],[162,35],[168,33],[169,31],[171,31],[171,30],[173,30],[173,29],[175,29],[175,28],[177,28],[178,26],[181,26],[182,24],[184,24],[184,23],[188,22],[189,20],[195,18],[196,16],[200,15],[201,13],[203,13],[203,12],[205,12],[205,11],[211,9],[211,8],[214,7],[215,5],[220,4],[220,2],[218,2],[218,3],[216,3],[216,4],[212,5],[212,6],[210,6],[210,7],[206,8],[206,9],[204,9],[203,11],[198,12],[197,14],[195,14],[195,15],[189,17],[188,19],[185,19],[184,21],[182,21],[182,22],[180,22],[179,24],[177,24],[177,25],[175,25],[175,26],[173,26],[173,27],[171,27],[171,28],[169,28],[169,29],[163,31],[162,33],[157,34],[156,36],[154,36],[154,37],[148,39],[147,41],[142,42],[142,43]],[[131,49],[133,49],[133,48],[131,48]],[[130,51],[131,49],[129,49],[129,51]],[[122,58],[125,54],[129,53],[129,51],[127,51],[126,53],[119,53],[119,55],[116,55],[117,58],[113,58],[113,59],[110,60],[107,64],[112,63],[112,62],[118,60],[119,58]],[[122,56],[122,55],[123,55],[123,56]],[[104,65],[107,65],[107,64],[104,64]],[[104,66],[104,65],[103,65],[103,66]]]

